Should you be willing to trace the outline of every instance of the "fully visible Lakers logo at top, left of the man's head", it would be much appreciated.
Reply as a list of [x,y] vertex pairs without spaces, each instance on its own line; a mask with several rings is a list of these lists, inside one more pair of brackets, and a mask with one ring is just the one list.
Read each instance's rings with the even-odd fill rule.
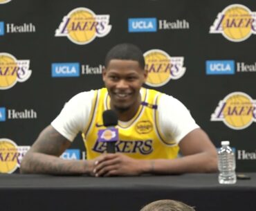
[[66,15],[55,37],[68,37],[79,45],[89,44],[95,37],[104,37],[111,30],[109,15],[95,15],[88,8],[76,8]]

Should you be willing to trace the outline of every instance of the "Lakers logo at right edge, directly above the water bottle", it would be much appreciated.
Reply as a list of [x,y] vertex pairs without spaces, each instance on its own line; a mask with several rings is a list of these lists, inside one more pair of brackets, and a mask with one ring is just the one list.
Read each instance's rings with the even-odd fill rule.
[[256,122],[256,100],[246,93],[230,93],[219,102],[211,121],[223,121],[231,129],[245,129]]

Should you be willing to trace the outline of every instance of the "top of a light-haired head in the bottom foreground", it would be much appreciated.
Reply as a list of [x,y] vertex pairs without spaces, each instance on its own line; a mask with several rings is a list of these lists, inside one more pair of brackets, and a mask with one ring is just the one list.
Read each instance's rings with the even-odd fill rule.
[[140,211],[195,211],[181,201],[163,199],[145,205]]

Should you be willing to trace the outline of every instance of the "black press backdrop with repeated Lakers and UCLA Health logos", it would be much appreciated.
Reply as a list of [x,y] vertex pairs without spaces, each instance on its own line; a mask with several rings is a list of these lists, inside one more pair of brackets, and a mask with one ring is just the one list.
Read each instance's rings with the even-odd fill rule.
[[[238,172],[256,170],[256,1],[0,0],[0,172],[20,160],[64,103],[99,89],[104,56],[138,45],[145,87],[185,104]],[[169,106],[169,105],[167,105]],[[81,136],[64,158],[84,158]]]

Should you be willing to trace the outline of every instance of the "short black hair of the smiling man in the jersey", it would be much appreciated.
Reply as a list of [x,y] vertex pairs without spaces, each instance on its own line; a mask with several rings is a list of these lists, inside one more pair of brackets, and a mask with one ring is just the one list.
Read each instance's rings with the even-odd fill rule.
[[124,43],[113,46],[105,58],[105,67],[109,65],[111,59],[134,60],[138,62],[140,68],[145,68],[143,52],[134,44]]

